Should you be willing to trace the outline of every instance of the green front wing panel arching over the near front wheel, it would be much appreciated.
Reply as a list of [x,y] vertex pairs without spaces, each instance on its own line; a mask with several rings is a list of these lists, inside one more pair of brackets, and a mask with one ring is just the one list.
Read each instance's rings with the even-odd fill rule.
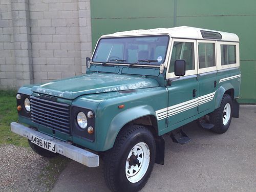
[[[158,87],[126,94],[112,92],[105,93],[101,99],[104,100],[96,113],[96,137],[98,150],[105,151],[113,146],[123,125],[146,115],[156,116],[155,111],[166,106],[167,91],[164,87]],[[119,109],[118,106],[122,104],[124,108]],[[158,132],[165,126],[165,122],[158,122]]]

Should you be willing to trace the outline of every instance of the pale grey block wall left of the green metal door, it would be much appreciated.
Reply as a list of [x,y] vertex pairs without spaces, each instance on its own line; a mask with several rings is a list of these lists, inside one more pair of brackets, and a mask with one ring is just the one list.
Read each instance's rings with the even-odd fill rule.
[[1,0],[0,6],[0,89],[86,71],[90,0]]

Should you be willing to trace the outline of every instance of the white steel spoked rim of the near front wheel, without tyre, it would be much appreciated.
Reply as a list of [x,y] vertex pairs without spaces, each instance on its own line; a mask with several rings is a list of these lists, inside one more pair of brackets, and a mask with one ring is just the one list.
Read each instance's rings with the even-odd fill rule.
[[[137,159],[139,163],[131,165],[133,159]],[[137,143],[126,159],[125,175],[127,180],[131,183],[140,181],[146,174],[148,165],[150,165],[150,148],[144,142]]]

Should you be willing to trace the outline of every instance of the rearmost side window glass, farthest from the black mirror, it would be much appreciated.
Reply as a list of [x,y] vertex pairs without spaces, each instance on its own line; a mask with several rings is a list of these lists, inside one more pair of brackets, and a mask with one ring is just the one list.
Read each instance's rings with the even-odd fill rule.
[[236,46],[221,45],[221,65],[229,65],[236,63]]

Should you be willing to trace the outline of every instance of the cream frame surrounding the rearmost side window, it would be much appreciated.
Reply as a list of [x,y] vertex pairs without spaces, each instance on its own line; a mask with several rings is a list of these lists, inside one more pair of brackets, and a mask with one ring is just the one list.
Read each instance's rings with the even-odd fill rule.
[[[221,65],[221,45],[232,45],[236,46],[236,63]],[[220,55],[217,60],[217,69],[228,69],[240,66],[240,56],[239,56],[239,42],[228,42],[228,41],[217,41],[217,53]]]

